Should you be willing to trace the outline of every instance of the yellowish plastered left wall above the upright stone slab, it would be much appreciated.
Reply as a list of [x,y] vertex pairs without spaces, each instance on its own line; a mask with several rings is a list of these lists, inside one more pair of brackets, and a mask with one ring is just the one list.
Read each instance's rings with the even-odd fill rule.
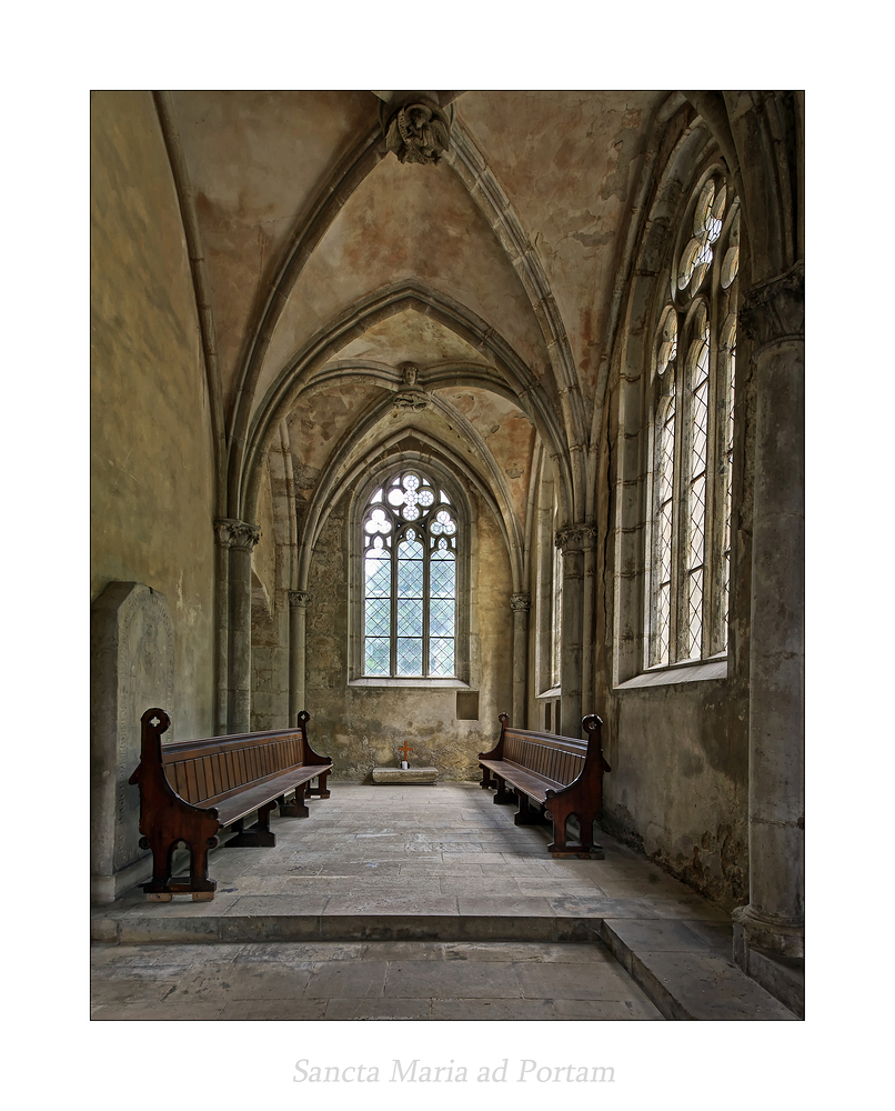
[[115,580],[167,597],[171,740],[207,737],[212,454],[187,247],[151,96],[94,93],[91,116],[91,601]]

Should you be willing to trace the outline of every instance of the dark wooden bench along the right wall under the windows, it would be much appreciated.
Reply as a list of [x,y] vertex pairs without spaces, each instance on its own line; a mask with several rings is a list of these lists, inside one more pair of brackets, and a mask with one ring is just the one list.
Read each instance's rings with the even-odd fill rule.
[[[603,848],[593,840],[593,823],[603,809],[603,772],[612,770],[601,748],[603,722],[589,713],[581,723],[587,733],[587,740],[582,741],[512,729],[505,713],[500,721],[496,745],[479,753],[482,787],[496,788],[496,803],[519,801],[516,825],[552,820],[553,841],[547,849],[554,857],[603,860]],[[566,823],[573,815],[577,818],[579,843],[566,841]]]

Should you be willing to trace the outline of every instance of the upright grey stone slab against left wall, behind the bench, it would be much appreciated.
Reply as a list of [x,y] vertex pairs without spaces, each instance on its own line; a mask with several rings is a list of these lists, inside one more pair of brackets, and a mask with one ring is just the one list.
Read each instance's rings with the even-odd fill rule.
[[112,902],[152,872],[139,845],[140,718],[174,701],[174,627],[168,599],[140,582],[110,582],[90,613],[90,893]]

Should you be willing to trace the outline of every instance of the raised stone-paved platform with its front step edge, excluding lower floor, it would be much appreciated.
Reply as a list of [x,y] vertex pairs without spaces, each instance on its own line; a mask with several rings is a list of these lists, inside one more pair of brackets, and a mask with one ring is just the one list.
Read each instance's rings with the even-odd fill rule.
[[477,783],[373,785],[336,782],[301,821],[274,813],[272,848],[213,849],[211,902],[138,888],[94,907],[92,940],[597,943],[666,1019],[795,1020],[734,964],[730,914],[606,832],[605,860],[557,860],[546,828],[507,822]]

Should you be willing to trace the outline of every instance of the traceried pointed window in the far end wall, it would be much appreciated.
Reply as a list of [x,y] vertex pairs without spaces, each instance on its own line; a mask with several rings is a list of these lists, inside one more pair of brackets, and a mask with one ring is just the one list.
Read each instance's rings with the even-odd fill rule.
[[456,674],[457,514],[419,470],[376,487],[362,520],[363,674]]

